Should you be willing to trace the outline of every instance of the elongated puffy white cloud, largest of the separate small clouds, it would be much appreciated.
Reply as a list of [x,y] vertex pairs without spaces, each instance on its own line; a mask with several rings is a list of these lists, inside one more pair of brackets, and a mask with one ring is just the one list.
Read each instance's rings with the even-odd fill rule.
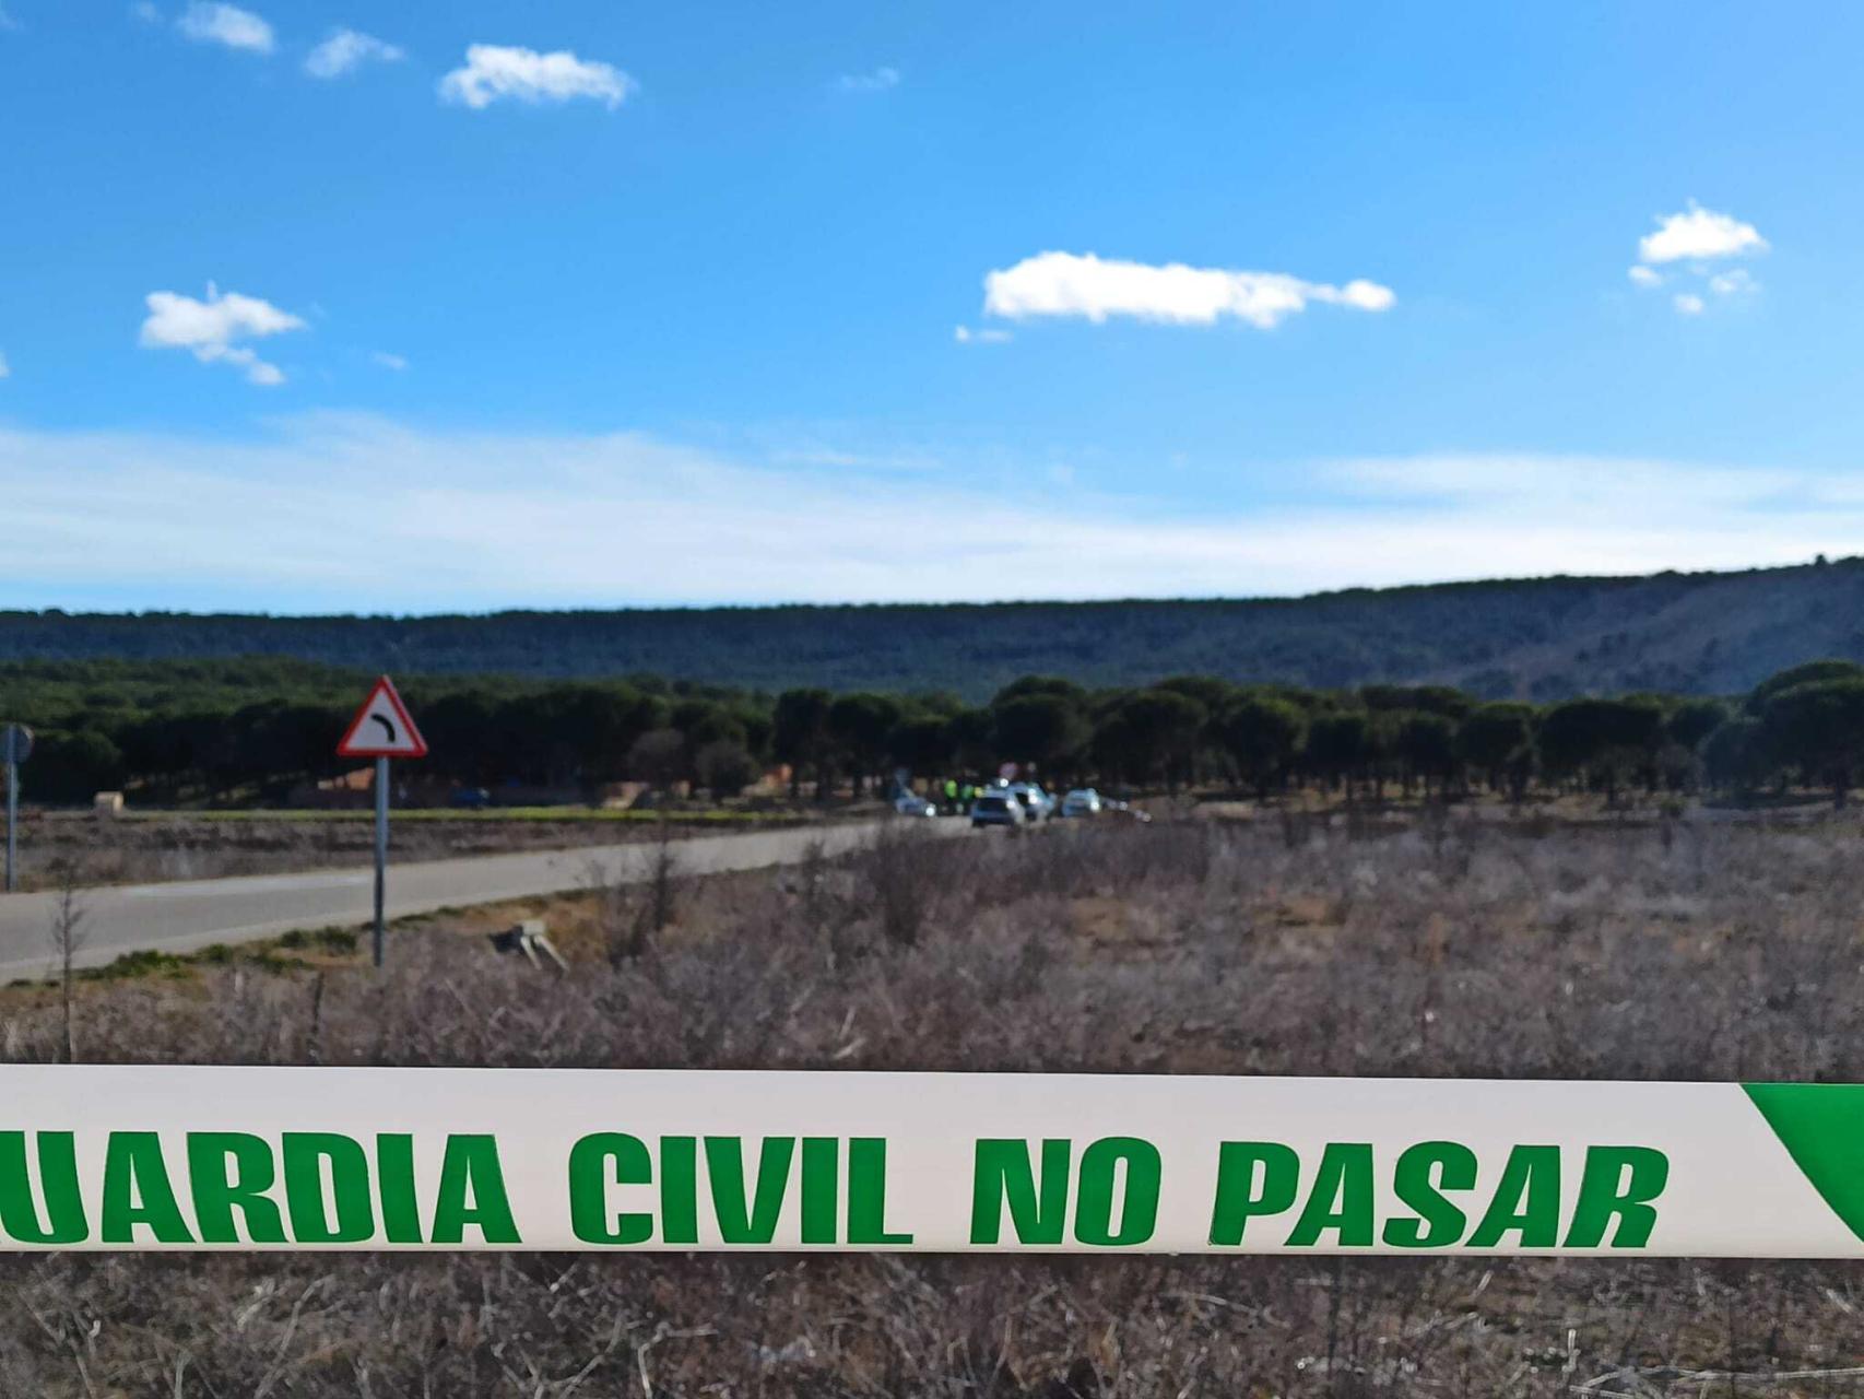
[[1376,282],[1344,287],[1303,282],[1284,272],[1232,272],[1221,267],[1128,263],[1094,254],[1044,252],[984,278],[984,312],[1008,319],[1109,315],[1171,325],[1212,325],[1230,315],[1269,330],[1309,302],[1383,312],[1396,297]]

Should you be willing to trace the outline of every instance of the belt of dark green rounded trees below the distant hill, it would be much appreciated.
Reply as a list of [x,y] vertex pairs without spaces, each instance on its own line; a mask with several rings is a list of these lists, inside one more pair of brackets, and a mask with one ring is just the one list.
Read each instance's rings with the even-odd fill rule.
[[[0,664],[0,718],[39,729],[30,791],[84,800],[267,800],[337,772],[363,672],[302,660]],[[1478,787],[1648,793],[1864,774],[1864,666],[1814,660],[1745,696],[1637,692],[1551,705],[1448,685],[1305,688],[1178,675],[1090,688],[1023,675],[986,703],[949,690],[800,686],[770,694],[630,675],[611,681],[408,675],[432,754],[421,770],[470,787],[593,795],[632,780],[734,796],[783,765],[792,793],[861,793],[906,769],[939,783],[1012,761],[1051,785],[1325,787],[1461,796]]]

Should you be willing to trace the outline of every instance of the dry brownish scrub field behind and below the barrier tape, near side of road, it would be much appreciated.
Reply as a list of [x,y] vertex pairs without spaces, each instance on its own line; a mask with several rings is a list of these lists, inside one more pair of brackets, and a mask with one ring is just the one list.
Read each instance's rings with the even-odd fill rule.
[[[1309,819],[598,890],[569,976],[403,929],[97,979],[95,1061],[1864,1078],[1838,828]],[[656,927],[660,923],[660,927]],[[0,992],[0,1054],[62,1052]],[[7,1395],[1847,1395],[1864,1270],[1413,1259],[11,1257]]]

